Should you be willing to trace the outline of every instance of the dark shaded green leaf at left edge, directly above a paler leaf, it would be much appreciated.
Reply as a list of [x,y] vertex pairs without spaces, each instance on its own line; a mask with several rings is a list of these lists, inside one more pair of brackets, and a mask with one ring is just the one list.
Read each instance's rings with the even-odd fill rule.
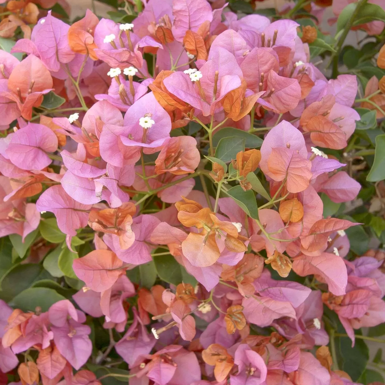
[[35,263],[19,264],[3,278],[3,291],[0,291],[0,298],[9,302],[18,293],[28,289],[33,282],[45,278],[49,278],[49,275],[42,265]]

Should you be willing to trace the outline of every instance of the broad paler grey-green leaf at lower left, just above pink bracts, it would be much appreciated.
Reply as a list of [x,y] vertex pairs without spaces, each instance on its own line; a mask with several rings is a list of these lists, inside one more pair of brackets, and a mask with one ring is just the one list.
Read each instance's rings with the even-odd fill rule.
[[48,311],[51,305],[65,297],[49,288],[29,288],[23,290],[10,302],[10,306],[23,311],[35,311],[40,306],[42,311]]

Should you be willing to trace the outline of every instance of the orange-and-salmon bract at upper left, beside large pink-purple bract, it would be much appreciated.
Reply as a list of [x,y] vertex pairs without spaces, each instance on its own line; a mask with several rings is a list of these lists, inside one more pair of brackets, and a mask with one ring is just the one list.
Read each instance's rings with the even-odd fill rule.
[[88,54],[92,60],[97,60],[94,51],[97,48],[94,42],[94,32],[98,23],[98,17],[87,9],[85,16],[71,25],[68,30],[68,42],[74,52]]

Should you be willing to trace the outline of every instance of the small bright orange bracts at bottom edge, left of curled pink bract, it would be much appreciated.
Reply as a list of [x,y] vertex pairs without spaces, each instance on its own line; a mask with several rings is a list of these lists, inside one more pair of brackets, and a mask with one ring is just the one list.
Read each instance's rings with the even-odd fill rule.
[[208,365],[215,366],[214,376],[218,382],[226,379],[234,365],[233,357],[218,343],[213,343],[203,350],[202,358]]

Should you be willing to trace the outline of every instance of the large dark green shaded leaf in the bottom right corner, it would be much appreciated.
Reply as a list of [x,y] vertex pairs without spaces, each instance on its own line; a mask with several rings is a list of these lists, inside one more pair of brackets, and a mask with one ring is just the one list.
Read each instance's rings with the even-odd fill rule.
[[[340,326],[338,330],[343,331]],[[360,330],[356,331],[357,335],[362,335]],[[365,341],[356,338],[354,348],[352,348],[352,341],[348,337],[337,337],[335,339],[337,349],[337,362],[340,370],[348,373],[352,380],[356,382],[364,372],[368,360],[369,349]]]

